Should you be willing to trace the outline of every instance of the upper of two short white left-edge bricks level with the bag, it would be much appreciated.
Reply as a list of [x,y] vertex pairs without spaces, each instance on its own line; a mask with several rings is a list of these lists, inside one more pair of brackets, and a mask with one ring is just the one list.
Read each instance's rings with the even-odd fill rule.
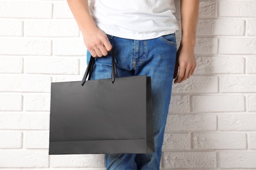
[[22,110],[22,95],[0,93],[0,110]]

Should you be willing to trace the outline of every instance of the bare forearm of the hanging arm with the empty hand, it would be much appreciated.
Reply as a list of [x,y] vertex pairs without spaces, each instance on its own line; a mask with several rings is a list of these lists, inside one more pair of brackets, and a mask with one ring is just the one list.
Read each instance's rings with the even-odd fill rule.
[[198,23],[199,0],[181,0],[181,45],[194,48]]

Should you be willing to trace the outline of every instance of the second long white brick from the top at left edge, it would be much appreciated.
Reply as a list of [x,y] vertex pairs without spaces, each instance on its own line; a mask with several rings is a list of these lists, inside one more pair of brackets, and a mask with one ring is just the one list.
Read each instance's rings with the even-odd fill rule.
[[51,55],[51,41],[41,39],[0,39],[0,54]]

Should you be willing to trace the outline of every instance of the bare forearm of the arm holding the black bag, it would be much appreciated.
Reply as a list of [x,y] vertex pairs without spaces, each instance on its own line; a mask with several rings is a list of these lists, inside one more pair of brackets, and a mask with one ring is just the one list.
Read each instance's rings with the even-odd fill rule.
[[89,12],[88,0],[67,0],[67,2],[83,35],[95,29],[96,25]]

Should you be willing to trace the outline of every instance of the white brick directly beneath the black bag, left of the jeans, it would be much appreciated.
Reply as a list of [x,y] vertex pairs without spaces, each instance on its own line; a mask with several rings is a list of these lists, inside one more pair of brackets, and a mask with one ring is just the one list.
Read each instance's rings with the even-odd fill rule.
[[51,167],[104,167],[104,155],[53,155]]

